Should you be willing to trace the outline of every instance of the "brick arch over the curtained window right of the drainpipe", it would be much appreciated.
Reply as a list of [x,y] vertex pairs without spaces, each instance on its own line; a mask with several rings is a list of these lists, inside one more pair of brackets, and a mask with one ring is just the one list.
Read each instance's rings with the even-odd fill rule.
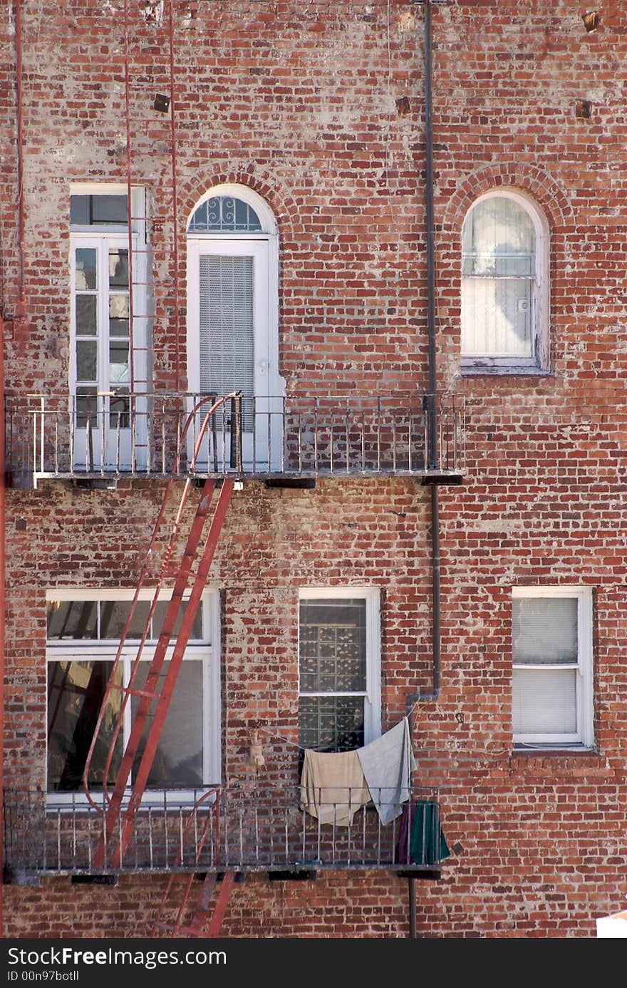
[[566,232],[574,222],[573,208],[561,186],[541,168],[513,161],[485,165],[457,187],[444,210],[442,233],[454,235],[460,232],[464,216],[475,200],[499,188],[530,196],[543,209],[552,236]]

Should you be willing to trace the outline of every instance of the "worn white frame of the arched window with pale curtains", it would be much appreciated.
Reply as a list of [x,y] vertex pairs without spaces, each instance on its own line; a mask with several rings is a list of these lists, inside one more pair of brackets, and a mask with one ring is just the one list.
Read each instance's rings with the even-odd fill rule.
[[[499,357],[493,354],[465,354],[463,350],[464,311],[460,311],[461,327],[461,369],[462,371],[502,372],[502,373],[538,373],[549,369],[549,227],[546,217],[539,206],[531,199],[513,189],[499,188],[479,196],[464,216],[462,224],[462,263],[463,263],[463,230],[474,206],[488,199],[505,198],[523,208],[533,224],[535,233],[535,279],[533,288],[533,306],[531,313],[532,353],[530,357]],[[463,268],[461,283],[466,278]],[[476,277],[476,276],[475,276]],[[461,300],[461,299],[460,299]]]

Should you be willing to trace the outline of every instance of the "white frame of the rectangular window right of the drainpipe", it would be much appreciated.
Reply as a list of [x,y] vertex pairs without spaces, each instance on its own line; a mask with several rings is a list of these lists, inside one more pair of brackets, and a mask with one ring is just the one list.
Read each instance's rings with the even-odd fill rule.
[[577,601],[577,642],[578,658],[573,663],[515,663],[512,659],[512,673],[516,669],[526,672],[542,672],[566,669],[576,670],[576,717],[577,730],[572,734],[513,734],[513,744],[521,748],[528,746],[584,747],[593,744],[593,680],[592,680],[592,588],[584,586],[559,587],[513,587],[512,600],[528,598],[575,599]]

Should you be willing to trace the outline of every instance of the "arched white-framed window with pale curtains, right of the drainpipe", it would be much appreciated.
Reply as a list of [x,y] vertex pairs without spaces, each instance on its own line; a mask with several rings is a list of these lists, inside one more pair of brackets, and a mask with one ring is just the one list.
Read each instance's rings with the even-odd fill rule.
[[471,206],[462,230],[462,368],[547,368],[547,242],[546,220],[520,193],[491,192]]

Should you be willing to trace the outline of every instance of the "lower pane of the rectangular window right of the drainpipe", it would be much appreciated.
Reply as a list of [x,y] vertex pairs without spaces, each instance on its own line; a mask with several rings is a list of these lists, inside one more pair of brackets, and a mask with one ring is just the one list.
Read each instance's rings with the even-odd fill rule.
[[515,734],[576,734],[577,670],[514,669],[511,713]]

